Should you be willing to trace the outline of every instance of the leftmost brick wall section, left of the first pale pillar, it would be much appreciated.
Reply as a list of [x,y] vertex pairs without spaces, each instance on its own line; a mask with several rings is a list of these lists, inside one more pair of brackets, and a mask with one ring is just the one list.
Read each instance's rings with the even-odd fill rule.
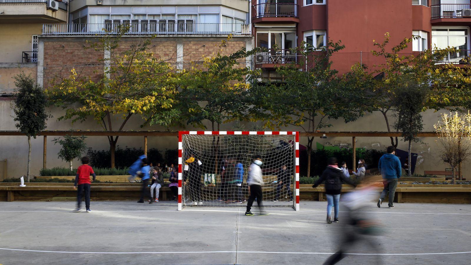
[[[85,49],[85,41],[44,41],[43,86],[53,78],[65,78],[74,68],[77,74],[93,80],[103,76],[103,51]],[[64,47],[62,47],[64,46]]]

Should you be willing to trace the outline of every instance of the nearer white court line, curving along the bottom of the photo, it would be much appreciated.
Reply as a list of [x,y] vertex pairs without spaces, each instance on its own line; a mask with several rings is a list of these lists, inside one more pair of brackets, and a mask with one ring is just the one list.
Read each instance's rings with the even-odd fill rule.
[[[275,251],[179,251],[179,252],[88,252],[88,251],[48,251],[48,250],[30,250],[16,248],[0,248],[0,250],[26,251],[26,252],[42,252],[42,253],[71,253],[71,254],[198,254],[198,253],[254,253],[254,254],[326,254],[328,252],[275,252]],[[468,254],[465,252],[442,252],[442,253],[345,253],[346,255],[363,255],[363,256],[405,256],[405,255],[446,255],[446,254]]]

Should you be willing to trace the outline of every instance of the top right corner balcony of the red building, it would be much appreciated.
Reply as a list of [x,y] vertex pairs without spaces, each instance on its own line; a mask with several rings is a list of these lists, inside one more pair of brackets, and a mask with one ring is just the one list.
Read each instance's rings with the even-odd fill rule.
[[432,26],[469,26],[471,25],[471,4],[432,5]]

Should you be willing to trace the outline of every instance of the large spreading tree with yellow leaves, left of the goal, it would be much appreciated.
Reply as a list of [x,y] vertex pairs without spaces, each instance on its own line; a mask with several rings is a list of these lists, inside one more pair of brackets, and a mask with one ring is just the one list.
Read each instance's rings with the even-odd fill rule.
[[[99,80],[81,76],[75,69],[66,78],[57,77],[53,86],[47,90],[51,102],[65,109],[60,119],[72,119],[72,122],[84,121],[92,116],[106,131],[122,131],[134,114],[142,116],[145,124],[168,126],[180,115],[177,108],[172,108],[178,93],[178,74],[166,59],[156,58],[147,48],[152,44],[152,37],[134,42],[120,41],[128,32],[128,27],[121,27],[117,35],[107,34],[97,43],[91,43],[91,49],[110,54],[110,59],[102,59],[106,67],[105,75]],[[120,45],[131,43],[125,49]],[[80,106],[77,107],[76,104]],[[112,119],[121,116],[118,128]],[[114,153],[119,136],[107,136],[110,144],[111,167],[115,166]]]

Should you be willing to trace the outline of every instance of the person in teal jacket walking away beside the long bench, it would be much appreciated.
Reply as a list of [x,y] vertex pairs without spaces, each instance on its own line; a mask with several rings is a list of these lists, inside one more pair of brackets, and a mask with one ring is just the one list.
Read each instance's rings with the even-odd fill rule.
[[396,148],[394,146],[388,147],[387,154],[384,154],[378,163],[378,170],[381,172],[384,186],[380,199],[378,199],[378,208],[381,208],[382,201],[388,192],[388,207],[394,208],[394,193],[396,192],[396,187],[398,186],[398,179],[402,174],[401,161],[399,161],[399,157],[396,157],[395,154]]

